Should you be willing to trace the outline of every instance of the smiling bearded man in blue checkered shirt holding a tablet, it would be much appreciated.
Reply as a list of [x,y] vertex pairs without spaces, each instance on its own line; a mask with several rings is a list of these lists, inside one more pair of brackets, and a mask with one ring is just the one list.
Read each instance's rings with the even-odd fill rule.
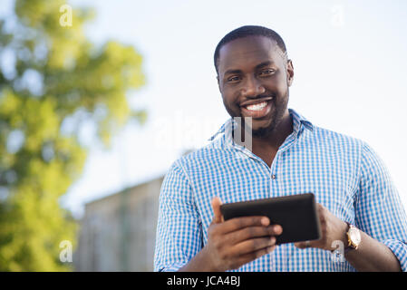
[[[175,161],[160,192],[156,271],[407,271],[407,218],[369,145],[287,109],[294,66],[276,32],[243,26],[215,51],[232,117],[212,142]],[[251,148],[235,140],[251,117]],[[242,120],[244,120],[242,118]],[[220,135],[220,138],[215,138]],[[322,238],[276,246],[266,217],[225,221],[221,202],[312,192]],[[344,259],[332,251],[342,244]]]

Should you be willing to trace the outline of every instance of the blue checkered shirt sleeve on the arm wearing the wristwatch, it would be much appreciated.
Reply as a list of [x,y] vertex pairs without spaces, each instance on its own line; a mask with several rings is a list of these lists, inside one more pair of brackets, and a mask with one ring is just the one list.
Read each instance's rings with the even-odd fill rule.
[[407,272],[407,218],[383,160],[363,143],[355,226],[392,250]]

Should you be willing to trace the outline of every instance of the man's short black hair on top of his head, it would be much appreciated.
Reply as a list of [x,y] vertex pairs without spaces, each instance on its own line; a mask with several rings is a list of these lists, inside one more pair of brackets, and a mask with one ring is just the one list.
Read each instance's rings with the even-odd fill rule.
[[219,61],[219,51],[223,45],[226,43],[231,42],[232,40],[243,38],[247,36],[266,36],[271,40],[276,41],[277,46],[281,49],[283,53],[286,53],[286,43],[284,43],[283,39],[279,34],[277,34],[274,30],[257,25],[246,25],[241,26],[228,34],[226,34],[218,43],[217,48],[215,49],[215,54],[213,57],[213,62],[215,64],[215,69],[218,73],[218,61]]

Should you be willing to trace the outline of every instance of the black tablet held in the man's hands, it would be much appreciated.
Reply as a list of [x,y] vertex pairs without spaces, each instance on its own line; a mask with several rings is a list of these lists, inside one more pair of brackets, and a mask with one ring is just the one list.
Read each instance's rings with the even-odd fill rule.
[[271,225],[283,227],[276,244],[294,243],[321,238],[321,227],[312,193],[278,198],[264,198],[223,204],[220,211],[225,220],[248,216],[266,216]]

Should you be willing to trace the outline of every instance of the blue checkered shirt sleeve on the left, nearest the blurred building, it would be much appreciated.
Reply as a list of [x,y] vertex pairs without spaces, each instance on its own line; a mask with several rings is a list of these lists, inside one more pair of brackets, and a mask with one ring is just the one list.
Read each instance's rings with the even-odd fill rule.
[[202,231],[189,179],[178,161],[163,179],[154,271],[177,271],[201,249]]

